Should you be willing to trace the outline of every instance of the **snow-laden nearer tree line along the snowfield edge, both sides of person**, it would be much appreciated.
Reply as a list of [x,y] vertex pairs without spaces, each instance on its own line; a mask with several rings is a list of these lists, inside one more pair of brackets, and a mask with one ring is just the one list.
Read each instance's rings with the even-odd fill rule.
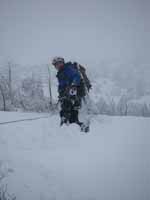
[[[42,80],[34,75],[25,76],[20,84],[14,86],[12,67],[13,64],[8,63],[6,72],[0,73],[0,110],[50,112],[52,99],[44,95]],[[150,105],[131,101],[126,95],[121,95],[117,102],[113,97],[109,102],[100,97],[97,103],[93,103],[92,112],[114,116],[150,117]]]

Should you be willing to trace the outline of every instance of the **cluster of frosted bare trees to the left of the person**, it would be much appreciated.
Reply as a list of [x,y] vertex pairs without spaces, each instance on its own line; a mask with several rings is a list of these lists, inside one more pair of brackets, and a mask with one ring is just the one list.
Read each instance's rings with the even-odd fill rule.
[[0,110],[49,112],[49,99],[44,96],[42,81],[33,74],[17,85],[12,77],[11,62],[0,71]]

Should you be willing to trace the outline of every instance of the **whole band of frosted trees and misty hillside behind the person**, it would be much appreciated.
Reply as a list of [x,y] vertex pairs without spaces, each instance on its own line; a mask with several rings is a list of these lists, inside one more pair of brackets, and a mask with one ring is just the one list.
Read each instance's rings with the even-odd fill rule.
[[[16,65],[9,62],[3,70],[0,69],[0,110],[21,110],[28,112],[51,111],[51,88],[49,90],[51,98],[48,95],[45,96],[44,93],[45,87],[48,89],[48,86],[51,84],[50,82],[48,83],[49,75],[47,66],[45,66],[44,73],[44,66],[41,68],[28,68],[30,71],[26,73],[23,73],[22,69],[25,69],[20,66],[17,66],[17,71],[15,71],[15,67]],[[19,73],[18,70],[20,70]],[[134,71],[136,77],[133,74],[129,76],[129,71],[131,70]],[[139,102],[136,100],[145,94],[145,84],[148,84],[148,81],[144,82],[140,77],[140,73],[135,68],[132,69],[132,66],[127,67],[127,69],[114,67],[114,74],[113,72],[111,73],[109,67],[106,67],[104,71],[100,71],[103,77],[108,76],[109,79],[100,78],[96,70],[95,75],[94,72],[91,72],[93,74],[92,99],[95,100],[91,105],[91,111],[94,114],[150,117],[150,105],[144,101]],[[147,72],[146,68],[145,71]],[[147,77],[147,74],[145,73],[143,76]],[[19,77],[20,75],[21,77]],[[45,80],[45,85],[43,84],[42,78]],[[112,81],[113,79],[116,82]],[[127,88],[124,88],[125,86]],[[128,88],[128,86],[131,87]],[[116,96],[117,98],[115,98]]]

